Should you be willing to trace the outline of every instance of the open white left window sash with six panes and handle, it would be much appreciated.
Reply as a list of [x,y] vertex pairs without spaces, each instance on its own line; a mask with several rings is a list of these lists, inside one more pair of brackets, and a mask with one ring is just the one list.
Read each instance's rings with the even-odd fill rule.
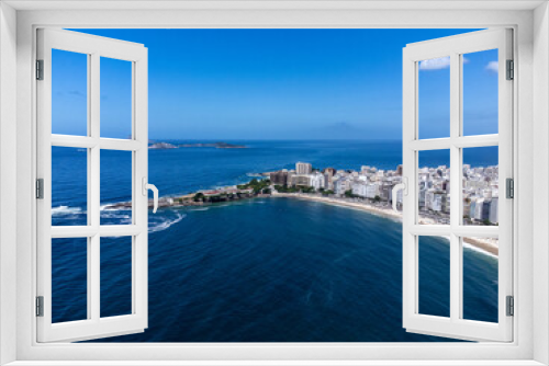
[[[43,198],[36,202],[37,222],[37,296],[43,299],[42,317],[37,317],[37,341],[82,341],[143,332],[148,324],[147,247],[148,174],[147,119],[147,48],[123,42],[65,30],[37,30],[37,59],[43,61],[43,78],[37,91],[37,176],[42,179]],[[88,75],[88,133],[86,136],[52,134],[52,49],[86,55]],[[130,139],[104,138],[100,134],[101,58],[131,62],[132,136]],[[86,149],[88,222],[86,226],[52,226],[52,147]],[[100,222],[100,156],[102,150],[128,151],[132,155],[132,222]],[[101,261],[103,237],[131,237],[132,240],[132,312],[101,317]],[[85,238],[87,240],[87,318],[52,323],[52,240]]]

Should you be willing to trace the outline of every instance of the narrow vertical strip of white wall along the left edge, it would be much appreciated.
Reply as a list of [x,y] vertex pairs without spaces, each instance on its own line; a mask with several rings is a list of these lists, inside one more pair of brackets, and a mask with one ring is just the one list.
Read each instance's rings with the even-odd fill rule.
[[[15,279],[16,13],[0,3],[0,277]],[[0,282],[0,365],[15,359],[15,281]]]

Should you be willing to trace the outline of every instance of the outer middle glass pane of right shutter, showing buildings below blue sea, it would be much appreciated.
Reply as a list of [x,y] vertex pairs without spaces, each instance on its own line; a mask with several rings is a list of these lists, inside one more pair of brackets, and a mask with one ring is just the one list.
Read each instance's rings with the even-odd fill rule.
[[497,225],[497,146],[463,149],[463,225]]

